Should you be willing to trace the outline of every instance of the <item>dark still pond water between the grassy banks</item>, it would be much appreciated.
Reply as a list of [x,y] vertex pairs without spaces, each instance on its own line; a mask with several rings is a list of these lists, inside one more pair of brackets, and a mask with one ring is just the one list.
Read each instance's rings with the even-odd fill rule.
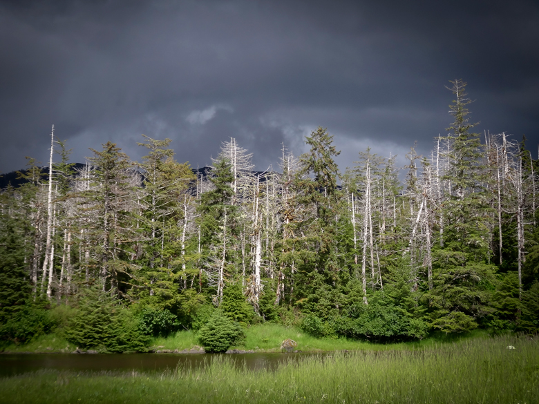
[[[257,353],[229,354],[236,367],[250,370],[274,370],[281,363],[298,361],[316,354]],[[320,355],[320,354],[319,354]],[[41,369],[69,370],[73,372],[102,372],[135,370],[138,372],[164,372],[185,369],[200,369],[211,363],[217,354],[1,354],[0,377],[14,376]]]

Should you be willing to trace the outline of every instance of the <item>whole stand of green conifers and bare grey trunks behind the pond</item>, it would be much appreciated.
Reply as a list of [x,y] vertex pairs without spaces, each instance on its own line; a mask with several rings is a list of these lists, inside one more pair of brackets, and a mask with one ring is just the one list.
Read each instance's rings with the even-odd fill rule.
[[404,167],[367,148],[339,171],[323,127],[263,172],[234,138],[196,169],[151,134],[140,162],[108,142],[73,164],[53,128],[50,164],[28,159],[0,193],[1,343],[62,325],[79,346],[144,350],[216,312],[379,343],[536,334],[536,151],[475,133],[451,83],[448,128]]

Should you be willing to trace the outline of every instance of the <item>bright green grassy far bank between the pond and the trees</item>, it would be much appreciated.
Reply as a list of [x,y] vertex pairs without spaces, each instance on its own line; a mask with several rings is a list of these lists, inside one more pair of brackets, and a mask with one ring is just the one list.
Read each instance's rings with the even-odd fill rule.
[[[281,343],[283,343],[283,340],[290,338],[297,343],[294,349],[302,352],[416,350],[461,340],[489,337],[486,331],[475,330],[458,336],[435,334],[424,340],[401,343],[371,343],[351,338],[316,338],[305,334],[297,327],[285,327],[274,323],[252,325],[245,329],[245,334],[245,342],[230,349],[254,352],[281,352]],[[3,349],[3,353],[70,353],[74,352],[75,349],[77,347],[69,343],[61,332],[56,332],[39,336],[27,344],[9,345]],[[152,338],[149,349],[151,352],[198,352],[200,343],[196,332],[178,331],[167,337]]]

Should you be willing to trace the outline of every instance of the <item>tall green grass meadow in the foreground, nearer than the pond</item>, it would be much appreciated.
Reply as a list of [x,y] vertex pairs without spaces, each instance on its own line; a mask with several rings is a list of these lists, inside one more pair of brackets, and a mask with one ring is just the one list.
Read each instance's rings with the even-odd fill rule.
[[[507,346],[516,349],[507,349]],[[163,374],[41,372],[0,381],[0,403],[537,403],[539,344],[476,338],[405,351],[359,351],[238,369],[212,356],[205,369]]]

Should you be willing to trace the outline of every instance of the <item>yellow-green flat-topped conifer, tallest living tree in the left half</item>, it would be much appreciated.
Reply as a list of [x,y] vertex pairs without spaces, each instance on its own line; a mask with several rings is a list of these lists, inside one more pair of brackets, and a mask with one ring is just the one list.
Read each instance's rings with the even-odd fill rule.
[[135,246],[139,269],[131,295],[180,314],[180,293],[187,277],[193,277],[193,269],[187,273],[186,236],[189,221],[193,221],[189,186],[194,175],[189,164],[173,159],[168,147],[171,140],[144,138],[139,146],[148,148],[149,153],[140,164],[144,182],[138,189]]

